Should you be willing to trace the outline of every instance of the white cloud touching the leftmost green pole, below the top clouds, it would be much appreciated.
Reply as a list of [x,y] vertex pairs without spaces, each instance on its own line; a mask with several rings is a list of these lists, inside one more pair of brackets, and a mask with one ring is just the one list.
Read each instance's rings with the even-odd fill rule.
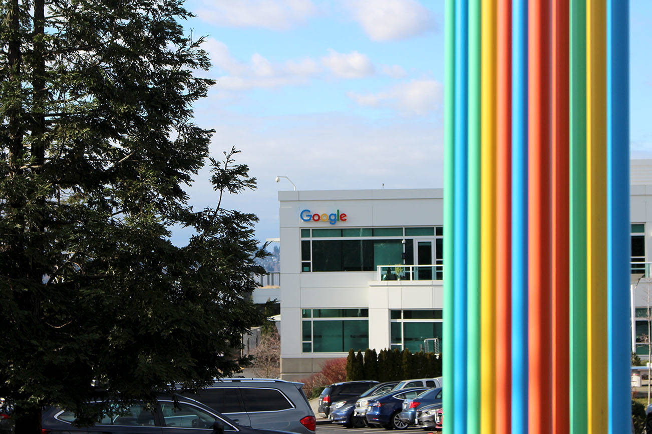
[[347,96],[358,105],[366,107],[389,107],[406,115],[426,115],[442,102],[443,87],[435,80],[413,80],[377,94],[355,94]]

